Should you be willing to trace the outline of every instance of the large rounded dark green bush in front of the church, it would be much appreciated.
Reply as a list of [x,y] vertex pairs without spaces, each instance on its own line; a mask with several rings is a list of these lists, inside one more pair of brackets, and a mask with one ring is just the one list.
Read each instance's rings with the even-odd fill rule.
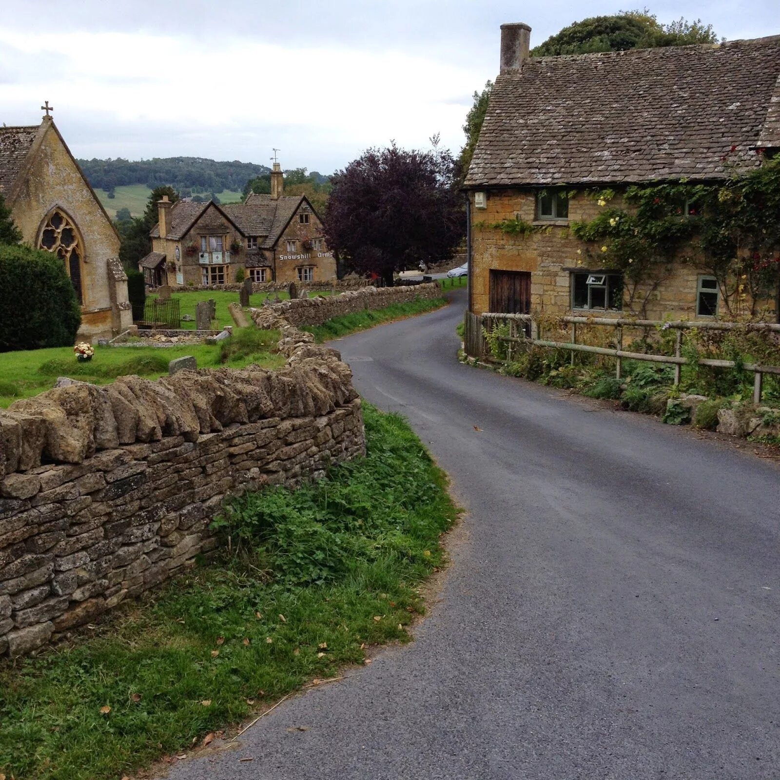
[[0,246],[0,278],[0,352],[73,344],[81,309],[62,260]]

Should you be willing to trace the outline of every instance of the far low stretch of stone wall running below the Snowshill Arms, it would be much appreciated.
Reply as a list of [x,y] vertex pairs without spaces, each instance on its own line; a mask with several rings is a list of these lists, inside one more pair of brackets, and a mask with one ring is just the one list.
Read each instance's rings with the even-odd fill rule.
[[365,287],[338,296],[282,300],[251,312],[259,328],[274,329],[279,327],[276,323],[279,317],[293,325],[320,325],[332,317],[364,309],[384,309],[393,303],[407,303],[417,298],[441,298],[441,287],[438,282],[414,287]]

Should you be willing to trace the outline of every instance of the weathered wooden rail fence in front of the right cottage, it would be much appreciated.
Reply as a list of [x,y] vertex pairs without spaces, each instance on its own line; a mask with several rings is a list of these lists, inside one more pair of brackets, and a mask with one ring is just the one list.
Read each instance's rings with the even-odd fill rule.
[[[469,318],[472,318],[471,321]],[[542,338],[541,324],[535,321],[530,314],[500,314],[488,312],[485,314],[466,313],[466,334],[471,334],[470,342],[464,341],[466,354],[472,357],[481,357],[487,353],[487,342],[484,339],[483,329],[490,329],[497,324],[505,322],[509,324],[509,333],[498,337],[499,341],[507,344],[507,360],[512,360],[513,349],[527,349],[530,346],[543,346],[548,349],[568,349],[572,353],[572,363],[574,354],[577,352],[590,353],[594,355],[605,355],[614,357],[615,377],[622,378],[622,361],[626,360],[644,360],[647,363],[666,363],[675,367],[675,385],[679,385],[680,371],[684,365],[689,363],[682,356],[683,332],[697,328],[698,330],[710,331],[734,331],[753,333],[776,333],[780,335],[780,324],[768,322],[757,323],[736,323],[736,322],[660,322],[657,320],[628,320],[612,319],[610,317],[561,317],[559,321],[571,326],[571,340],[568,342],[551,341]],[[615,342],[617,346],[601,347],[590,346],[588,344],[577,343],[578,325],[597,325],[604,328],[615,328]],[[676,332],[675,354],[674,355],[654,355],[640,352],[629,352],[623,349],[623,328],[672,328]],[[474,332],[480,332],[480,340],[473,335]],[[697,364],[700,366],[711,366],[715,368],[736,368],[737,363],[734,360],[718,360],[712,358],[699,358]],[[743,371],[753,372],[753,402],[761,402],[761,392],[764,381],[764,374],[774,374],[780,376],[780,366],[761,365],[759,363],[743,363],[739,366]]]

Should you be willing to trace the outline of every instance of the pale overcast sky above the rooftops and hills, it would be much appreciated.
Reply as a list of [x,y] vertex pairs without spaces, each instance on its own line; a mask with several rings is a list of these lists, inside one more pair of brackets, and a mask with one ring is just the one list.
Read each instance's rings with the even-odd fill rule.
[[330,173],[395,140],[456,152],[498,27],[531,45],[585,16],[651,5],[729,40],[780,34],[778,0],[0,0],[0,122],[44,100],[76,157],[192,155]]

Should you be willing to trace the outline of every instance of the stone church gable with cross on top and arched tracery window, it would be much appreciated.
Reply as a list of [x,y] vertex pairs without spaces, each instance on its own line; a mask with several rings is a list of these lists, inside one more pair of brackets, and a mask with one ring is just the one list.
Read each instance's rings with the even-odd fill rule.
[[133,324],[119,235],[46,111],[39,126],[0,127],[0,195],[24,243],[62,258],[81,304],[77,339]]

